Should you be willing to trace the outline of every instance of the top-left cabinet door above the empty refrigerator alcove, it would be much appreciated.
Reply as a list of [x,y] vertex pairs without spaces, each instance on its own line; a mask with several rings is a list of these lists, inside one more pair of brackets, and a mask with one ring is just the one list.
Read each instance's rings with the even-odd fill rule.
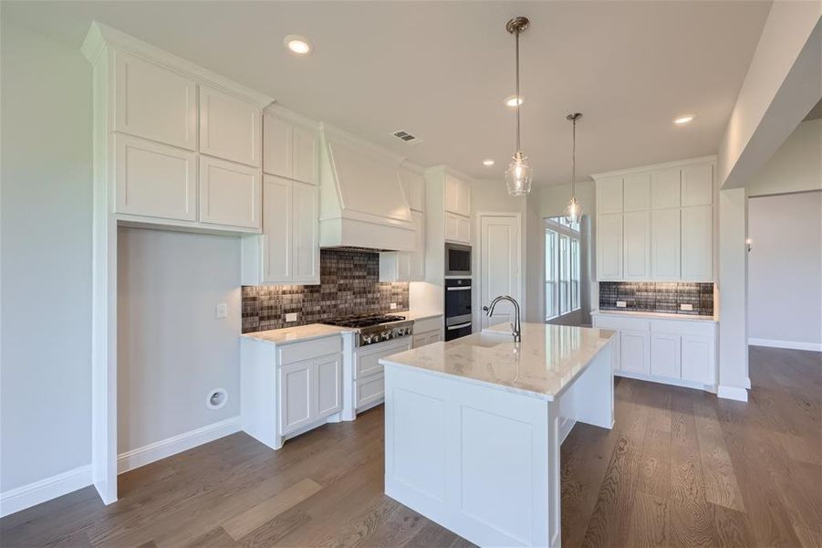
[[197,83],[124,51],[114,66],[114,131],[197,150]]

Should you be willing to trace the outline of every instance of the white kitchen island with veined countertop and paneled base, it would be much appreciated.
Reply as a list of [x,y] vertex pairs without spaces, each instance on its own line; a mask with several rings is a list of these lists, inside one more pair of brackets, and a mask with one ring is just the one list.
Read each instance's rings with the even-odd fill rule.
[[559,445],[613,427],[613,335],[499,325],[381,359],[385,493],[481,546],[558,546]]

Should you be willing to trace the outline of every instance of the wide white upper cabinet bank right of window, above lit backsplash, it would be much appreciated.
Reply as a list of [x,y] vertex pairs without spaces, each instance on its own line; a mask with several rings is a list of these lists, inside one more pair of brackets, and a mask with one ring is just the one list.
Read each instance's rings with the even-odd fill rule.
[[713,163],[594,175],[598,279],[713,281]]

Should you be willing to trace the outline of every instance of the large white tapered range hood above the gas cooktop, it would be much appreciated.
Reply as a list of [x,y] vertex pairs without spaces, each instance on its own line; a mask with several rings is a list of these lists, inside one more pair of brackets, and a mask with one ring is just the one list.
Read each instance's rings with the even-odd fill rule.
[[414,225],[402,191],[402,158],[321,125],[320,248],[412,251]]

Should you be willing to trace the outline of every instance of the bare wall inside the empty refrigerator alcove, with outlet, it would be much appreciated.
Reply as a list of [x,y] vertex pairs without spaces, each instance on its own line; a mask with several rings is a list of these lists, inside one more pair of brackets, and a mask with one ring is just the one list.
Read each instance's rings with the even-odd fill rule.
[[[118,241],[121,454],[239,414],[240,239],[120,227]],[[211,410],[215,388],[229,399]]]

